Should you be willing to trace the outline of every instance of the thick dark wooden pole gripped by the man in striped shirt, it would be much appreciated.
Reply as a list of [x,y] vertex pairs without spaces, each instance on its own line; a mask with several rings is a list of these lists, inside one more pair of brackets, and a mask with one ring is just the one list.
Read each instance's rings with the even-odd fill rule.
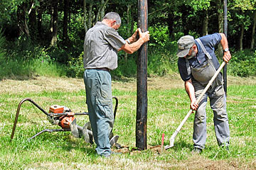
[[[147,0],[138,0],[138,28],[142,33],[148,29]],[[136,147],[146,149],[147,120],[147,42],[139,49],[137,58],[137,117],[136,117]]]

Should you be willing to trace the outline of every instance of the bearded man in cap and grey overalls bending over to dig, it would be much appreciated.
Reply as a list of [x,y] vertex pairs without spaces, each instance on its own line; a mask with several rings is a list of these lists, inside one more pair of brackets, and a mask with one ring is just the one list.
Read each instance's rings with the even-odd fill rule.
[[193,152],[201,153],[206,143],[206,103],[210,98],[210,108],[213,110],[215,135],[220,147],[228,149],[230,131],[226,111],[226,96],[223,88],[223,77],[213,81],[202,100],[196,103],[210,79],[220,64],[215,56],[215,46],[221,44],[223,60],[228,63],[231,58],[228,50],[228,40],[223,33],[214,33],[194,40],[190,35],[178,40],[178,71],[185,84],[185,89],[191,101],[191,109],[196,111],[193,123]]

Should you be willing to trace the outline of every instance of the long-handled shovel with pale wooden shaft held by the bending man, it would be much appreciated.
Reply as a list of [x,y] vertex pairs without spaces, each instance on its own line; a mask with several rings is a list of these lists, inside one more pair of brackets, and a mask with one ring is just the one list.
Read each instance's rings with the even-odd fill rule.
[[[206,88],[203,90],[202,94],[198,97],[198,99],[196,100],[196,103],[199,103],[203,97],[204,94],[206,94],[206,91],[209,89],[210,85],[213,83],[213,81],[215,80],[215,78],[218,76],[218,74],[220,73],[220,70],[223,69],[223,67],[225,66],[225,62],[223,62],[220,67],[218,68],[218,70],[215,72],[215,74],[213,75],[213,77],[210,79],[209,83],[207,84]],[[166,145],[164,147],[164,149],[169,149],[171,147],[174,147],[174,139],[176,137],[176,135],[178,135],[178,132],[181,130],[182,126],[186,123],[186,120],[188,120],[188,117],[191,115],[191,113],[193,112],[193,110],[191,109],[190,111],[188,111],[187,115],[185,116],[185,118],[183,118],[182,122],[180,125],[178,125],[178,128],[176,129],[176,131],[174,132],[173,135],[171,135],[171,139],[170,139],[170,145]]]

